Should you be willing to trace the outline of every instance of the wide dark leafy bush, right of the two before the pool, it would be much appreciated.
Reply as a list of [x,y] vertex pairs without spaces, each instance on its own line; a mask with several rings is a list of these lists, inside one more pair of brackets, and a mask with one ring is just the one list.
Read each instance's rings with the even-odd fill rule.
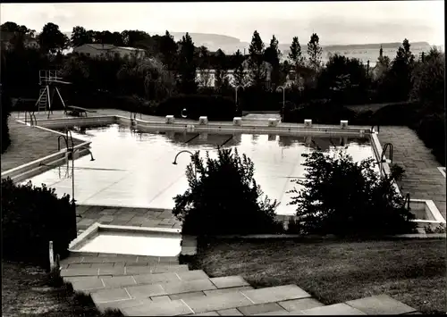
[[302,155],[307,175],[294,181],[304,188],[290,192],[298,194],[291,204],[298,205],[303,233],[361,237],[415,231],[415,216],[392,187],[392,179],[401,177],[397,169],[380,179],[373,159],[353,163],[343,152],[338,158],[319,152]]

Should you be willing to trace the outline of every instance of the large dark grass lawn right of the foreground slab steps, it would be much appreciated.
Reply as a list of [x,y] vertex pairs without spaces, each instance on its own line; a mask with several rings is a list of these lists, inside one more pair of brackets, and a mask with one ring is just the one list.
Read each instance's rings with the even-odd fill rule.
[[255,288],[296,284],[323,304],[385,293],[421,313],[444,313],[445,254],[445,239],[240,239],[199,244],[190,266],[210,277],[241,275]]

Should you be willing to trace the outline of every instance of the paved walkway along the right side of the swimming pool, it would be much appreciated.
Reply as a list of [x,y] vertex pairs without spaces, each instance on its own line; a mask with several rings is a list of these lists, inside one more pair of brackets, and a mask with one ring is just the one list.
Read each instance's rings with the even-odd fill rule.
[[406,171],[405,177],[398,182],[402,194],[409,193],[411,199],[433,200],[445,219],[445,177],[437,169],[440,163],[431,150],[415,131],[407,127],[380,127],[378,138],[382,146],[392,143],[392,162]]

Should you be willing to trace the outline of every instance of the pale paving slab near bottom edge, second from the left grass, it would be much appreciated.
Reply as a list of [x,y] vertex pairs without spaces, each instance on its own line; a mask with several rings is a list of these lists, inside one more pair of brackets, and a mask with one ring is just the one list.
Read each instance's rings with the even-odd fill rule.
[[253,304],[249,298],[239,292],[198,298],[185,298],[183,301],[190,306],[195,313],[220,311],[223,309],[237,308]]

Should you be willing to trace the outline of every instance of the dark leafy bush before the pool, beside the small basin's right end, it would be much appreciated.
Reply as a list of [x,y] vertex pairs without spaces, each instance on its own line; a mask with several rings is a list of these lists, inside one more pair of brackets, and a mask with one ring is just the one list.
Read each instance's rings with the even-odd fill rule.
[[[237,150],[219,149],[207,163],[192,157],[186,176],[190,188],[174,197],[173,214],[183,221],[182,232],[196,236],[282,232],[275,220],[278,203],[270,202],[253,179],[254,165]],[[197,176],[196,176],[197,172]]]

